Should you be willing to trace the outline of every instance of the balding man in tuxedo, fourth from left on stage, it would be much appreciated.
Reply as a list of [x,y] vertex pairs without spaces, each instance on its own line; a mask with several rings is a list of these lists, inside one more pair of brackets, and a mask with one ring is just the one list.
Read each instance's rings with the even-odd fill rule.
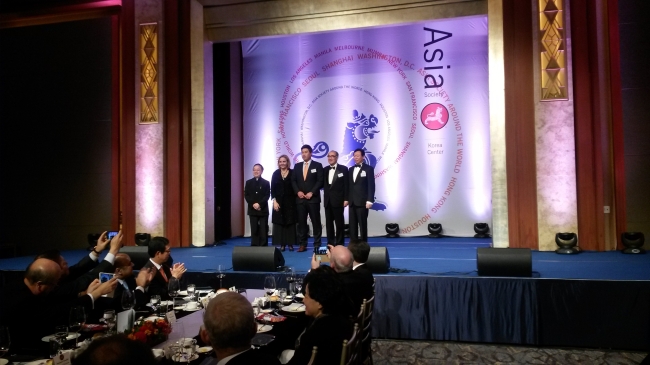
[[[330,151],[327,154],[329,166],[325,168],[325,186],[323,187],[327,244],[332,246],[344,244],[343,209],[348,206],[348,169],[339,165],[338,159],[339,153],[336,151]],[[334,230],[335,227],[336,230]]]

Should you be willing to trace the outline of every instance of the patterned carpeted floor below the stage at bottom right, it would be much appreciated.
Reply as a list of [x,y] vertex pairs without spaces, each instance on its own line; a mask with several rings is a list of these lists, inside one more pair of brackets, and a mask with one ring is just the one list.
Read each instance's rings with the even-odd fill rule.
[[373,340],[375,365],[640,364],[646,353],[457,342]]

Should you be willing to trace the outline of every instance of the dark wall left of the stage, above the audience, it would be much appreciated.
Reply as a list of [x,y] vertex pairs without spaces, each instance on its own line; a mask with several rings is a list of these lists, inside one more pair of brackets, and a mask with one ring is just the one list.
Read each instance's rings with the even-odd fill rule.
[[110,228],[110,18],[0,30],[0,171],[19,254]]

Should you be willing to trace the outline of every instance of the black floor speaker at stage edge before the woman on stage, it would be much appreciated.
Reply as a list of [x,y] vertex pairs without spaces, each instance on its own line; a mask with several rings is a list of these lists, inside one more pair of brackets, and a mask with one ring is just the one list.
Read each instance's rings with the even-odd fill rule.
[[284,256],[276,247],[235,246],[232,250],[233,271],[277,271],[284,266]]

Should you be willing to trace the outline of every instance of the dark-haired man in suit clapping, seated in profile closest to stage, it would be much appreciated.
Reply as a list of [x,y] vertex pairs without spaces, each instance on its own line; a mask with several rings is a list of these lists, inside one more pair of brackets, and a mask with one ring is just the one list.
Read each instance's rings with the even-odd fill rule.
[[154,237],[149,241],[149,262],[142,268],[151,269],[154,273],[153,279],[149,284],[149,295],[160,295],[162,300],[170,299],[167,293],[167,283],[172,276],[180,279],[185,271],[185,264],[176,263],[174,266],[169,267],[167,262],[171,255],[171,245],[169,240],[165,237]]

